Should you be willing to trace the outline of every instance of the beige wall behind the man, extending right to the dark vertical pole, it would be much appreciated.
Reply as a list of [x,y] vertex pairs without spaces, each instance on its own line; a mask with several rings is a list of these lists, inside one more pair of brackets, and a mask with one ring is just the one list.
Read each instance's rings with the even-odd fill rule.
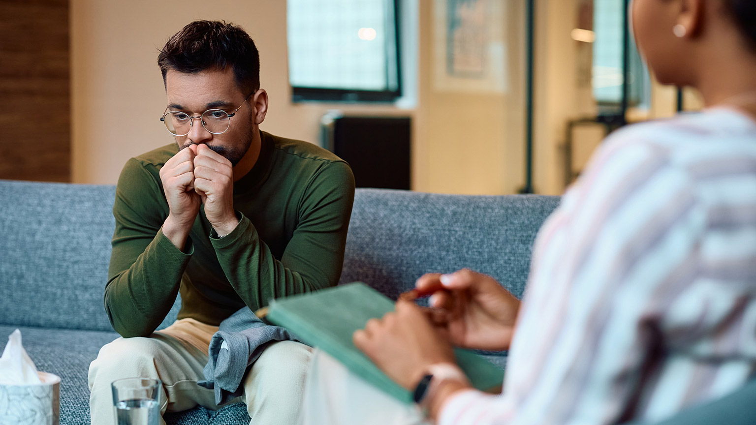
[[[341,108],[349,114],[411,115],[415,190],[513,193],[522,185],[522,91],[515,89],[506,95],[436,91],[432,85],[433,2],[405,2],[420,10],[420,18],[409,24],[409,29],[419,33],[420,83],[417,106],[410,101],[411,108],[401,110],[293,104],[287,77],[284,0],[71,0],[73,181],[113,184],[129,157],[172,141],[158,119],[166,99],[156,66],[157,49],[191,20],[223,19],[243,26],[258,45],[261,83],[271,98],[261,126],[265,131],[317,143],[321,116],[329,109]],[[505,16],[510,21],[505,26],[511,45],[509,73],[518,79],[522,78],[522,60],[518,60],[522,36],[516,23],[522,20],[513,12],[519,13],[520,2],[505,2],[509,8]],[[513,85],[521,88],[517,82]]]

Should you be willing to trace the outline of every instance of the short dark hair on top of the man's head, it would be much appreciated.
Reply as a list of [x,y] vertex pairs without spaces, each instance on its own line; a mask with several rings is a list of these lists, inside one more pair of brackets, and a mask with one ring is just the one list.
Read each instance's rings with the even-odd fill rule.
[[218,20],[195,20],[175,33],[157,55],[166,83],[168,70],[198,73],[231,66],[234,79],[249,95],[260,88],[260,56],[249,34],[240,26]]

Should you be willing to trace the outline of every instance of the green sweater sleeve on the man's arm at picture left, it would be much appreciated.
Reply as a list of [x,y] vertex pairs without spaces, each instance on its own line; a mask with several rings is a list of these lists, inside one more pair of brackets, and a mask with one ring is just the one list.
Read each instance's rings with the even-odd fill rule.
[[191,252],[163,234],[168,204],[160,183],[138,160],[124,166],[113,204],[116,230],[105,286],[105,311],[122,337],[144,337],[170,311]]

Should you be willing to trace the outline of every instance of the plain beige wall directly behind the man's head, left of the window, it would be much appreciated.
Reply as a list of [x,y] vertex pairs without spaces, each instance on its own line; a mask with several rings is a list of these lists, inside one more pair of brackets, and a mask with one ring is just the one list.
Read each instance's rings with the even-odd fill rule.
[[[318,141],[320,118],[333,105],[290,101],[285,1],[71,0],[74,182],[113,184],[129,157],[172,142],[159,121],[166,97],[157,50],[197,19],[237,23],[255,40],[271,100],[261,128]],[[396,113],[386,109],[352,108]]]

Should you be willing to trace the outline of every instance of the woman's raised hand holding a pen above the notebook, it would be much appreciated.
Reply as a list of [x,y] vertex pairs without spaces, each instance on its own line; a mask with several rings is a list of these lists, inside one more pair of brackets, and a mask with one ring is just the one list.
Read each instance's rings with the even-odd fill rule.
[[429,274],[416,287],[441,285],[428,311],[436,329],[452,344],[470,349],[510,348],[520,302],[494,278],[463,269],[451,275]]

